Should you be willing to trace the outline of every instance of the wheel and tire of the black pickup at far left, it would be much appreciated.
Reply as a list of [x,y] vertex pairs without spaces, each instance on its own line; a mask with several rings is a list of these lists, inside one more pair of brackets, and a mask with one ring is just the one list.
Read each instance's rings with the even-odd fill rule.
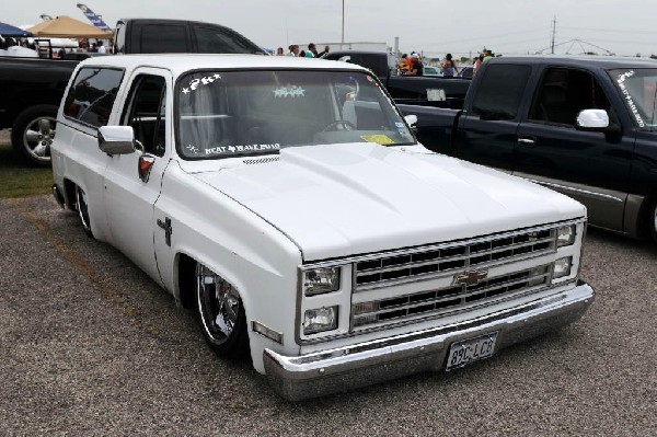
[[50,166],[57,106],[36,105],[23,111],[11,129],[11,145],[30,165]]

